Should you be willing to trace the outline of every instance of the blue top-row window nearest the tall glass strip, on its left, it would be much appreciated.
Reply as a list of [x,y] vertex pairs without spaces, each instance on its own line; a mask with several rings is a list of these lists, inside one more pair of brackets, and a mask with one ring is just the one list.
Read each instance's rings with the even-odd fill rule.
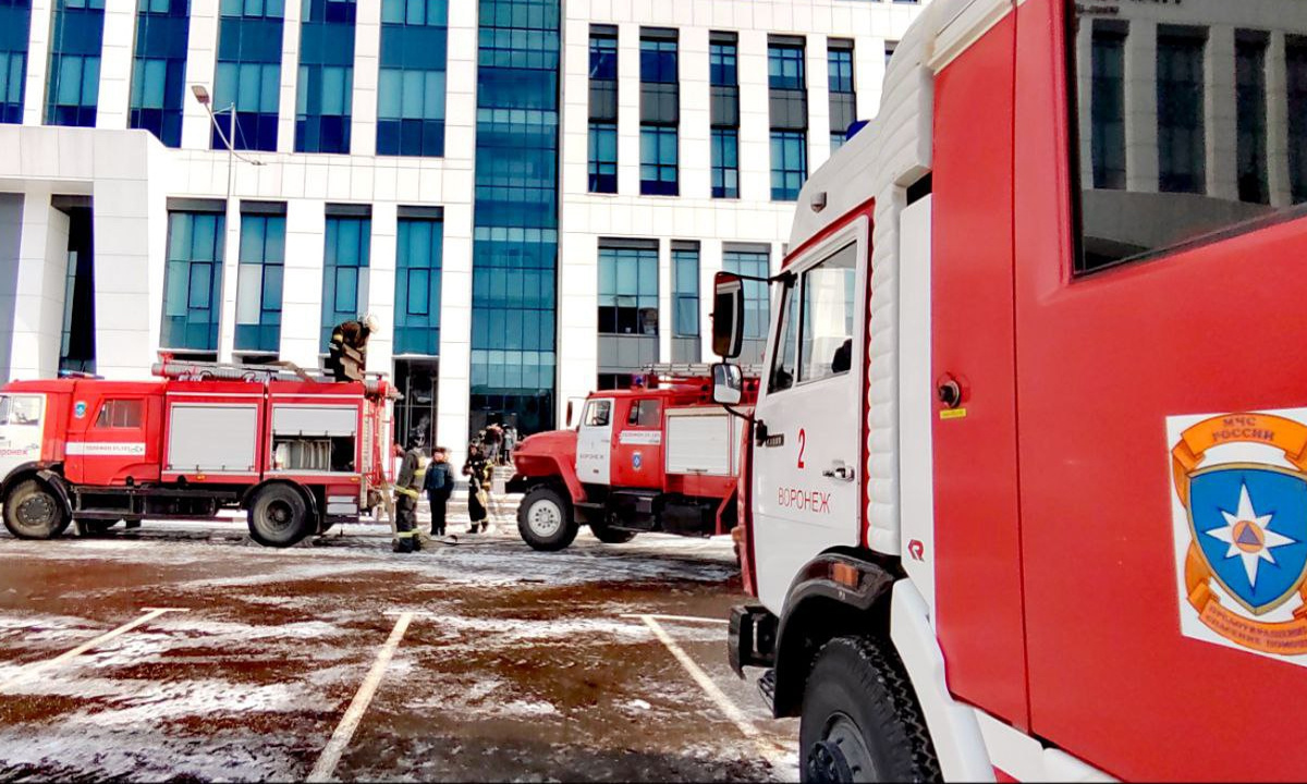
[[444,155],[448,0],[383,0],[376,154]]

